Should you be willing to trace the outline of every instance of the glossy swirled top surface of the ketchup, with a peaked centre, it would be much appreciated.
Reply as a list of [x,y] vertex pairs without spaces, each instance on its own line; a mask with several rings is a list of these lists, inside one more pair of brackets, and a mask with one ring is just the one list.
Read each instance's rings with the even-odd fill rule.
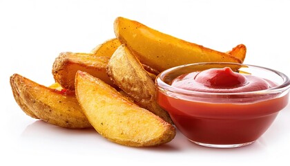
[[254,75],[235,73],[229,67],[180,75],[171,86],[189,91],[235,93],[261,91],[277,84]]

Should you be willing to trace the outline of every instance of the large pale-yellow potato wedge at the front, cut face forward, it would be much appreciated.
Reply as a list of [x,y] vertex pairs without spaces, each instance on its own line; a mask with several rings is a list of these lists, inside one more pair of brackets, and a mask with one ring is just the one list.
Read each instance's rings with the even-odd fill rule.
[[78,71],[76,95],[88,120],[104,138],[121,145],[161,145],[175,137],[175,127],[133,104],[105,82]]

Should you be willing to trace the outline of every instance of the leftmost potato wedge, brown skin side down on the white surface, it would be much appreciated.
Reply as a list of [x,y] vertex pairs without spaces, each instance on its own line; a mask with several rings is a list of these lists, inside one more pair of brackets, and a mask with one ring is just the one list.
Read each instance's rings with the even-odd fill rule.
[[79,107],[75,91],[50,89],[18,74],[10,77],[10,84],[15,100],[18,104],[21,101],[19,106],[28,116],[70,129],[92,127]]

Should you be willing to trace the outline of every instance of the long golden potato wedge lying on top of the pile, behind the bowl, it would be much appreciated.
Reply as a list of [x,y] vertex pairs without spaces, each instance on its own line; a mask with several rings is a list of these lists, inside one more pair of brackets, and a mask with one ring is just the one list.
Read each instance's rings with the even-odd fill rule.
[[137,21],[117,17],[117,39],[126,44],[142,64],[164,71],[167,68],[197,62],[237,62],[241,59],[204,46],[160,33]]

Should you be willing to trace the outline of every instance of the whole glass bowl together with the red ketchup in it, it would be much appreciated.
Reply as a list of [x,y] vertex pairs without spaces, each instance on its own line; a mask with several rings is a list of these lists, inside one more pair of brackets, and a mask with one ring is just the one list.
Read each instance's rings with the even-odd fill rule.
[[160,73],[155,82],[157,102],[177,129],[207,147],[251,144],[289,102],[288,77],[259,66],[189,64]]

